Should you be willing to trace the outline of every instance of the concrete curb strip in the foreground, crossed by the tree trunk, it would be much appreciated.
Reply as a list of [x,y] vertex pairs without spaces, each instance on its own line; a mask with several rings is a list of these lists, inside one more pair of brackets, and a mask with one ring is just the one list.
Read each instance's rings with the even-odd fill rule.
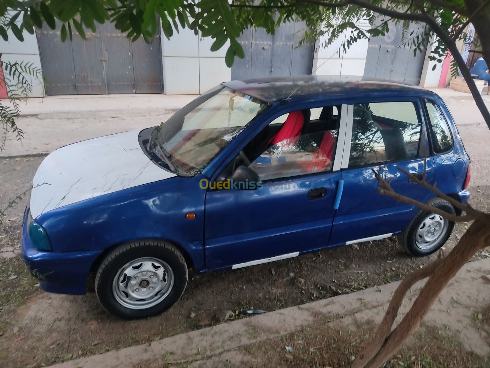
[[[459,339],[466,349],[480,356],[490,352],[489,333],[479,329],[474,315],[488,307],[490,293],[490,259],[466,263],[441,292],[424,323],[441,333]],[[397,324],[416,299],[422,282],[407,294]],[[131,346],[118,351],[79,358],[51,366],[52,368],[132,368],[173,367],[242,367],[250,357],[237,351],[239,347],[285,335],[301,328],[325,323],[329,326],[355,329],[358,323],[379,323],[399,282],[339,295],[297,307],[256,315],[214,327]],[[322,318],[323,317],[323,318]],[[173,363],[173,364],[172,364]]]

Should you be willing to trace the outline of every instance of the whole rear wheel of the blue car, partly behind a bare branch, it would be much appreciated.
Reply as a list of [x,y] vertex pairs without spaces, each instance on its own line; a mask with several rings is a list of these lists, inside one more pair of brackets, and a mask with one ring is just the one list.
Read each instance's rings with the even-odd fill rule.
[[[441,198],[433,199],[427,205],[455,214],[453,206]],[[444,245],[453,227],[453,221],[430,211],[419,210],[407,229],[398,235],[398,241],[410,255],[428,256]]]

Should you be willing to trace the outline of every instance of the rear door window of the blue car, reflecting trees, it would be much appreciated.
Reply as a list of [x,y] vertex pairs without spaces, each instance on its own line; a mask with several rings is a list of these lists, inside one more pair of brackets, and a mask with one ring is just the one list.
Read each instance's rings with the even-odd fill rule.
[[354,104],[349,167],[416,158],[420,131],[412,102]]

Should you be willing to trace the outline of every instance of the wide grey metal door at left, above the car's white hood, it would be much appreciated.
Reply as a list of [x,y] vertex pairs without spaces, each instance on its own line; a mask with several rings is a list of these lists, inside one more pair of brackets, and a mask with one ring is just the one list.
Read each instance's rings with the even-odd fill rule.
[[131,42],[112,23],[97,30],[85,29],[85,39],[73,33],[72,42],[61,42],[59,28],[37,30],[48,95],[162,92],[159,35],[148,45]]

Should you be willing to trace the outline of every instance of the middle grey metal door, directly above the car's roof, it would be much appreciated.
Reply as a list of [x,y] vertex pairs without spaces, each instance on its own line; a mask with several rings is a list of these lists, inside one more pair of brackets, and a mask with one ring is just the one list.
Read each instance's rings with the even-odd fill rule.
[[303,29],[304,22],[281,24],[274,35],[264,28],[246,29],[238,38],[245,58],[235,57],[231,79],[311,74],[315,45],[295,49]]

